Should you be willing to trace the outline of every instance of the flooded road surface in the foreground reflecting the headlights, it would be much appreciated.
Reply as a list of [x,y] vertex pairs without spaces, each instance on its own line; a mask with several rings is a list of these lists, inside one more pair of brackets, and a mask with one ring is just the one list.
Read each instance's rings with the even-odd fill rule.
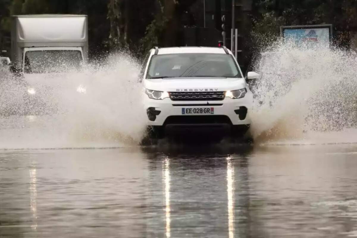
[[356,237],[357,146],[0,151],[0,237]]

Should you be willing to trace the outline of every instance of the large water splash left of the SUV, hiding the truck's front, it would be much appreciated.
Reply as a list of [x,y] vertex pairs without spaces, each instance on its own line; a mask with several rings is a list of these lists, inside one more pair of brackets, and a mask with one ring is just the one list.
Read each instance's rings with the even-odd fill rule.
[[26,85],[2,74],[0,148],[136,145],[146,116],[137,72],[116,54],[81,72],[27,75]]

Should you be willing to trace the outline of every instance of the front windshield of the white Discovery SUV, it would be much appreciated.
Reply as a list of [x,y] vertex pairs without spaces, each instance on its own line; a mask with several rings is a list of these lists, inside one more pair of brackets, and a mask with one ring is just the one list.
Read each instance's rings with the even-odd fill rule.
[[231,55],[165,54],[152,56],[148,79],[167,77],[236,77],[241,73]]

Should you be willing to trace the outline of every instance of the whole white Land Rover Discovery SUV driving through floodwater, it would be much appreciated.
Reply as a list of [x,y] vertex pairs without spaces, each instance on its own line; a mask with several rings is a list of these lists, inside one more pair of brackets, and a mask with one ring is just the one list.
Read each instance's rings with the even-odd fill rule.
[[145,57],[139,82],[150,137],[248,131],[253,95],[225,46],[155,47]]

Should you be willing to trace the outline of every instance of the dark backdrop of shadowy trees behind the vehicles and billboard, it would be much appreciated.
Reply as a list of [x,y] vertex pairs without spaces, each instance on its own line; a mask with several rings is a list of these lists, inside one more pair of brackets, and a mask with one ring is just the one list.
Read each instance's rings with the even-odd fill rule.
[[[283,25],[333,24],[333,43],[356,47],[357,0],[236,0],[235,11],[243,68]],[[232,0],[0,0],[0,50],[9,51],[16,14],[88,15],[91,59],[116,50],[141,57],[155,45],[217,46],[222,15],[230,47],[231,12]]]

